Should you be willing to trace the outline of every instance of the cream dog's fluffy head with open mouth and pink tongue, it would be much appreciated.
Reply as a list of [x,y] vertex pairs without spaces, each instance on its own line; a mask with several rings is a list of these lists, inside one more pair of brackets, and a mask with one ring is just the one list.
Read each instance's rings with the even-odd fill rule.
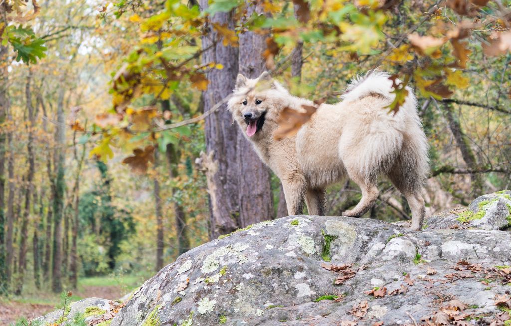
[[289,92],[266,71],[257,79],[247,79],[238,74],[227,108],[245,136],[257,141],[268,137],[278,127],[277,119],[284,108],[286,96]]

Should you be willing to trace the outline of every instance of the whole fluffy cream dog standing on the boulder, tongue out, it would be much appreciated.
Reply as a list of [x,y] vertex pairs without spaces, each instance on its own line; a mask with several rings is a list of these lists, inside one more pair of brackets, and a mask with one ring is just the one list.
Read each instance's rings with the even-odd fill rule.
[[282,110],[303,110],[302,105],[313,102],[289,94],[267,72],[258,79],[238,75],[227,107],[261,159],[281,179],[290,215],[302,213],[304,197],[309,214],[324,215],[326,187],[347,177],[360,186],[362,199],[343,215],[361,216],[376,202],[377,178],[384,176],[408,200],[411,229],[421,229],[425,212],[421,189],[429,171],[426,136],[409,87],[396,114],[385,108],[395,96],[388,77],[375,71],[354,79],[342,102],[320,105],[295,136],[275,140]]

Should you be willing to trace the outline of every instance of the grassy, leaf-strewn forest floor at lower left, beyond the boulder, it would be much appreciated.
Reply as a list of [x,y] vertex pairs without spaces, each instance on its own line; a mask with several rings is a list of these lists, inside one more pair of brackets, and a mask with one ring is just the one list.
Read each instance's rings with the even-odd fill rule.
[[[88,297],[116,300],[141,285],[145,279],[135,276],[110,276],[80,279],[72,301]],[[29,320],[55,310],[60,295],[48,290],[25,289],[25,294],[9,298],[0,297],[0,326],[8,326],[19,317]]]

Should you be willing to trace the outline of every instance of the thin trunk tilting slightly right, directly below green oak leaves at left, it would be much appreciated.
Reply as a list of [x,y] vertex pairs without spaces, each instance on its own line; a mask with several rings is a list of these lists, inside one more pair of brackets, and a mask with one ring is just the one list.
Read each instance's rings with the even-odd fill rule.
[[29,127],[28,127],[28,160],[29,160],[29,172],[27,175],[27,189],[25,192],[25,212],[21,218],[21,242],[19,245],[19,261],[18,261],[18,282],[16,284],[16,294],[21,294],[23,290],[23,284],[25,281],[25,271],[27,269],[27,240],[29,237],[28,224],[30,215],[32,212],[32,192],[34,191],[34,174],[35,174],[35,158],[34,158],[34,124],[35,114],[34,106],[32,105],[32,70],[29,70],[27,77],[27,84],[25,87],[25,95],[27,98],[27,108],[29,112]]

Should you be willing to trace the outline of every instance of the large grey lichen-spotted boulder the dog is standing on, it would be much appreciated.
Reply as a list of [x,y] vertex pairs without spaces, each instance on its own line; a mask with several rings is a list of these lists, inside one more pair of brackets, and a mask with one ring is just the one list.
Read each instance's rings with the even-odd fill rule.
[[111,325],[503,324],[509,195],[430,217],[420,232],[344,216],[255,224],[161,269]]

